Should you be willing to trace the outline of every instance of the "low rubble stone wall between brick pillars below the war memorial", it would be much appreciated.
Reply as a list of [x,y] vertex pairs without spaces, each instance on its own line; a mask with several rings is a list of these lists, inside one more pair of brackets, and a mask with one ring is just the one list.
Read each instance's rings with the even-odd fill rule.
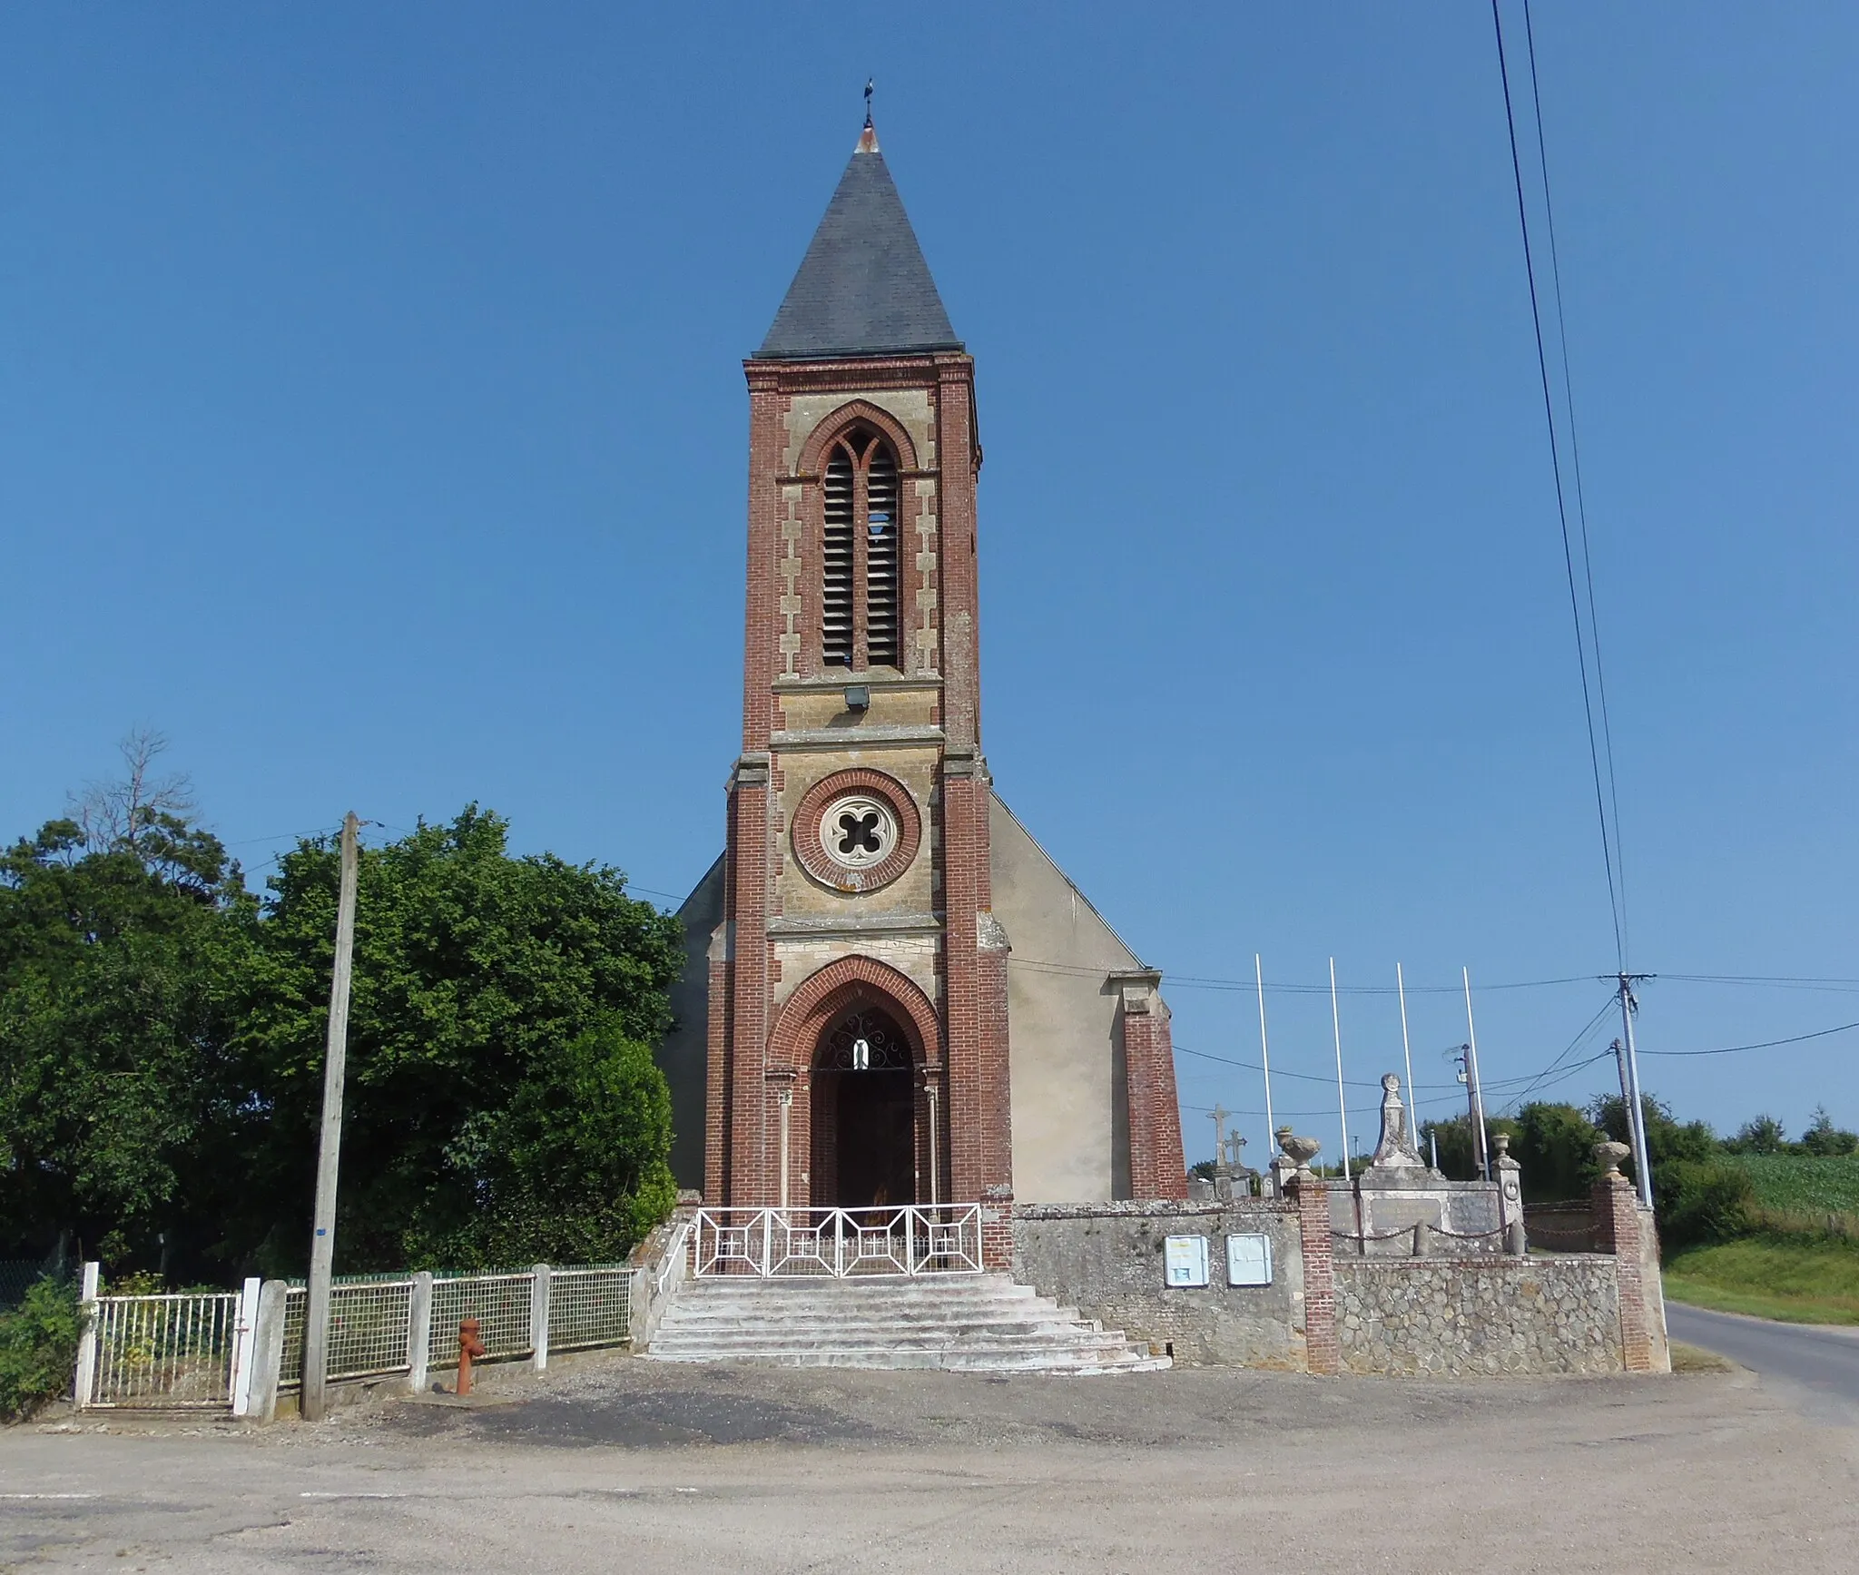
[[1621,1372],[1619,1287],[1604,1255],[1335,1261],[1348,1372]]

